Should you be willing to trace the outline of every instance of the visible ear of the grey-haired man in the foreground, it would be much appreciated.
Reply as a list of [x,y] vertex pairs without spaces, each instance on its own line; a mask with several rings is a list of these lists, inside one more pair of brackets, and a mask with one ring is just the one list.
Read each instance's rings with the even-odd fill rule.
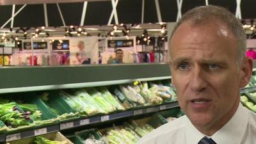
[[240,88],[246,86],[251,79],[252,76],[252,68],[253,68],[253,60],[252,58],[244,58],[241,62],[241,70],[240,70]]

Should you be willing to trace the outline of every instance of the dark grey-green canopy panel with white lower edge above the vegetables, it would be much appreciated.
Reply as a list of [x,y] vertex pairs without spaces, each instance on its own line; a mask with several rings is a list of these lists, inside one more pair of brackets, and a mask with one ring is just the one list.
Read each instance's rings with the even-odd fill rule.
[[170,79],[168,63],[1,67],[0,93],[57,90]]

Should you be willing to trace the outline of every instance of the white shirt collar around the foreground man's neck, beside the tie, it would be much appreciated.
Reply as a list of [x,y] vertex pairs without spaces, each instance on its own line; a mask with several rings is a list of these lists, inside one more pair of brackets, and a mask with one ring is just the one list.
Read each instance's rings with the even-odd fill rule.
[[[186,142],[197,144],[205,134],[198,131],[186,116]],[[216,143],[241,143],[248,123],[248,113],[240,103],[234,116],[211,138]]]

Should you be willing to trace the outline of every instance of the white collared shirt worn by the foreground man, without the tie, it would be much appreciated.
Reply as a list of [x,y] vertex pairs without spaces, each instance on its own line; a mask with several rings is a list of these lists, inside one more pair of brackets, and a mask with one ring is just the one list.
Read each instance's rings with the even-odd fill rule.
[[[198,144],[204,136],[187,116],[181,116],[150,132],[137,144]],[[235,115],[211,138],[217,144],[256,144],[256,114],[240,103]]]

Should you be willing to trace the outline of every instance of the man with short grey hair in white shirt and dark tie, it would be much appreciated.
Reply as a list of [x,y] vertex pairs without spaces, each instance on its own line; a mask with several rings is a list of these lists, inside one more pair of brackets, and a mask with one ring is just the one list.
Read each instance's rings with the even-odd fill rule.
[[177,22],[170,37],[170,70],[186,116],[139,144],[256,143],[256,115],[240,103],[252,74],[239,20],[218,6],[200,6]]

